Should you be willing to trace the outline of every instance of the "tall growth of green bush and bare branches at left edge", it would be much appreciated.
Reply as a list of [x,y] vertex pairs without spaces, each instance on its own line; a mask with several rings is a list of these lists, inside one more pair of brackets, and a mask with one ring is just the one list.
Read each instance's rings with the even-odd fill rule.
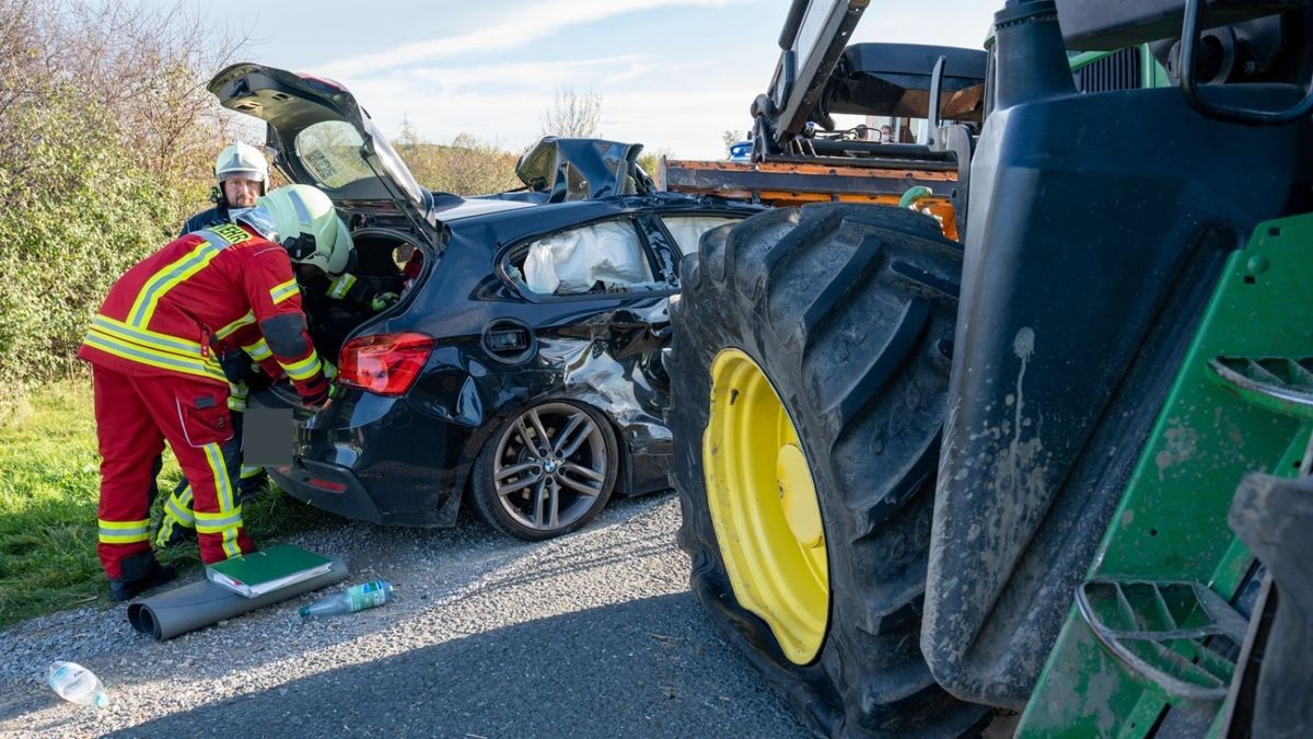
[[0,0],[0,413],[75,358],[109,285],[205,206],[242,47],[127,0]]

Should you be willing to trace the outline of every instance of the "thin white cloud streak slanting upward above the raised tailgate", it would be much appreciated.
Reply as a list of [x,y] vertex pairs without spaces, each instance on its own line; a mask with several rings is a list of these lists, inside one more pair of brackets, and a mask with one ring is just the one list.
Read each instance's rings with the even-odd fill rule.
[[324,66],[324,74],[337,78],[362,76],[394,67],[418,64],[446,57],[506,51],[524,46],[562,29],[668,7],[723,7],[744,0],[557,0],[516,8],[500,22],[397,49],[337,59]]

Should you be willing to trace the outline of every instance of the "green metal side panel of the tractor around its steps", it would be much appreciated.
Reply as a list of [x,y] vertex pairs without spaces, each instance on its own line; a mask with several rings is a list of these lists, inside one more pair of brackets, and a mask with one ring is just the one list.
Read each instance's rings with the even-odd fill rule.
[[[1209,360],[1313,356],[1313,214],[1262,224],[1233,254],[1167,396],[1090,579],[1187,580],[1230,600],[1250,556],[1226,526],[1241,476],[1293,476],[1309,426],[1247,402]],[[1067,614],[1018,736],[1145,736],[1167,696]],[[1178,707],[1209,711],[1220,705]]]

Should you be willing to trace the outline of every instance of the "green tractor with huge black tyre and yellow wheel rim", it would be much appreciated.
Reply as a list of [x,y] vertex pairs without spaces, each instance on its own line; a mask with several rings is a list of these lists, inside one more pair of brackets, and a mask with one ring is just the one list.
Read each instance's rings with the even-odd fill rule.
[[1313,735],[1310,8],[1008,0],[982,126],[930,85],[961,242],[817,204],[684,262],[692,589],[818,734]]

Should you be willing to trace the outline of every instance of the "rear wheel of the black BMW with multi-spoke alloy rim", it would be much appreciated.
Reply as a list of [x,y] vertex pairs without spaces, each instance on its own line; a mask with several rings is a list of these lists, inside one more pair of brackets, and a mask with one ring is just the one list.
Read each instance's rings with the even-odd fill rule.
[[488,438],[474,463],[470,498],[488,526],[541,542],[588,525],[611,498],[618,469],[616,435],[601,413],[549,400]]

